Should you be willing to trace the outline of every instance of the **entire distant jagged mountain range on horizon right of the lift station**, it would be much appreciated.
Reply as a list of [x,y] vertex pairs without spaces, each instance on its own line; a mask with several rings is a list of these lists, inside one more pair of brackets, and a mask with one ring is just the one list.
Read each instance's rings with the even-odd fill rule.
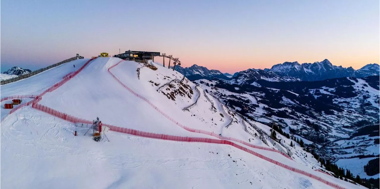
[[327,59],[315,63],[284,62],[272,66],[271,69],[247,69],[241,72],[236,72],[231,75],[228,73],[206,67],[193,65],[188,68],[176,67],[176,70],[184,74],[190,80],[214,78],[230,80],[229,83],[245,83],[256,80],[267,81],[318,81],[325,79],[333,79],[340,77],[368,77],[380,76],[380,65],[368,64],[361,69],[355,70],[352,67],[343,68],[342,66],[332,65]]

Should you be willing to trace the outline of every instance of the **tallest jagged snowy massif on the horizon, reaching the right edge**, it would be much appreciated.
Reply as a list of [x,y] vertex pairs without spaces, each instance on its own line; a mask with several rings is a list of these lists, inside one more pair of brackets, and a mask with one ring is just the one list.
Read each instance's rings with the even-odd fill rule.
[[299,78],[304,81],[318,81],[339,77],[367,77],[380,75],[378,64],[369,64],[355,71],[352,67],[343,68],[342,66],[332,65],[327,59],[315,63],[284,62],[272,66],[272,71],[280,76]]

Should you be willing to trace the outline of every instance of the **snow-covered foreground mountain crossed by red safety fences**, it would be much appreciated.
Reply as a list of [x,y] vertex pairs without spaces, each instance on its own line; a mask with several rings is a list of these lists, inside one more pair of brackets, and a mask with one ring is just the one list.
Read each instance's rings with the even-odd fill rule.
[[[119,58],[74,63],[0,86],[2,106],[38,96],[0,109],[0,188],[364,188],[327,171],[300,136],[270,139],[264,118],[220,103],[233,97],[216,81]],[[112,125],[99,143],[86,128],[96,117]]]

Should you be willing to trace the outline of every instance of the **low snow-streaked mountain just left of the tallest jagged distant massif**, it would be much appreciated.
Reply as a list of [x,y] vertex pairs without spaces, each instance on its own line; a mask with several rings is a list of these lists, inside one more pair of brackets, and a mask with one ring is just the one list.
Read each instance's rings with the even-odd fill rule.
[[247,69],[245,71],[237,72],[235,76],[231,78],[231,80],[228,81],[228,83],[234,83],[234,84],[250,84],[252,82],[255,82],[257,80],[267,80],[267,81],[274,81],[274,82],[283,82],[283,81],[300,81],[298,78],[294,77],[282,77],[274,72],[266,72],[262,69]]

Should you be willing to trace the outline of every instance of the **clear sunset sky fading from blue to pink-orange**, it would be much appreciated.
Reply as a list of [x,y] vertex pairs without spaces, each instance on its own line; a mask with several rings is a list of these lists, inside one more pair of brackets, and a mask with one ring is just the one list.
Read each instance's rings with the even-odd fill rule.
[[379,10],[379,0],[2,0],[0,71],[119,48],[230,73],[325,58],[359,69],[380,63]]

